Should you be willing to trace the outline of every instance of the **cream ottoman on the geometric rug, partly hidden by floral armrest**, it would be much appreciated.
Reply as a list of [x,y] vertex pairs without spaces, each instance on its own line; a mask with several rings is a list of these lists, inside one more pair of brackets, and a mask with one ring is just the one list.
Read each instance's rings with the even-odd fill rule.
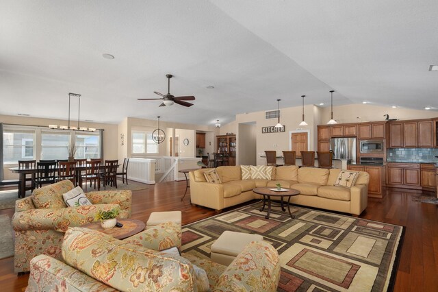
[[228,266],[251,241],[263,241],[259,234],[224,231],[211,245],[210,258],[215,263]]

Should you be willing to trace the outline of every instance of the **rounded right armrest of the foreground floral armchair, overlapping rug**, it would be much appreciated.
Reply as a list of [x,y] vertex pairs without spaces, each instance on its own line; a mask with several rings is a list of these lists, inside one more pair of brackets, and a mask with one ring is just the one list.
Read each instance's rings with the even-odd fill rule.
[[213,291],[276,291],[279,280],[279,253],[269,243],[253,241],[220,275]]

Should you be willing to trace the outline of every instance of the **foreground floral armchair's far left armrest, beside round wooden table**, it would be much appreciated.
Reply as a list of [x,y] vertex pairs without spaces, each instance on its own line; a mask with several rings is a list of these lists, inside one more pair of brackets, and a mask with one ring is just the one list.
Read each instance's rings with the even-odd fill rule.
[[174,246],[181,250],[181,226],[174,222],[160,223],[123,241],[157,251]]

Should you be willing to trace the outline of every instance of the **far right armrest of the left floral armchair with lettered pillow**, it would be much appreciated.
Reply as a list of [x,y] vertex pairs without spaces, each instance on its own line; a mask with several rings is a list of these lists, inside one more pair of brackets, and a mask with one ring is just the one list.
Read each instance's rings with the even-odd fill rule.
[[120,218],[131,217],[132,192],[120,191],[92,191],[85,194],[92,204],[118,204]]

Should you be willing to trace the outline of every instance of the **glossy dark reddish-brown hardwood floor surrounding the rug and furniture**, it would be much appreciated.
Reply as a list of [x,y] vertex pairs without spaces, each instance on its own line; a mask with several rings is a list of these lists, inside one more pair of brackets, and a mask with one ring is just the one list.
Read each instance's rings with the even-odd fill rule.
[[[181,202],[185,182],[165,182],[133,192],[133,219],[147,221],[151,212],[181,210],[183,224],[215,215],[214,210]],[[413,202],[415,191],[391,189],[384,199],[369,199],[360,217],[406,226],[394,291],[438,291],[438,205]],[[430,195],[430,193],[428,194]],[[14,209],[0,210],[12,217]],[[23,291],[28,275],[16,276],[14,258],[0,260],[0,291]]]

